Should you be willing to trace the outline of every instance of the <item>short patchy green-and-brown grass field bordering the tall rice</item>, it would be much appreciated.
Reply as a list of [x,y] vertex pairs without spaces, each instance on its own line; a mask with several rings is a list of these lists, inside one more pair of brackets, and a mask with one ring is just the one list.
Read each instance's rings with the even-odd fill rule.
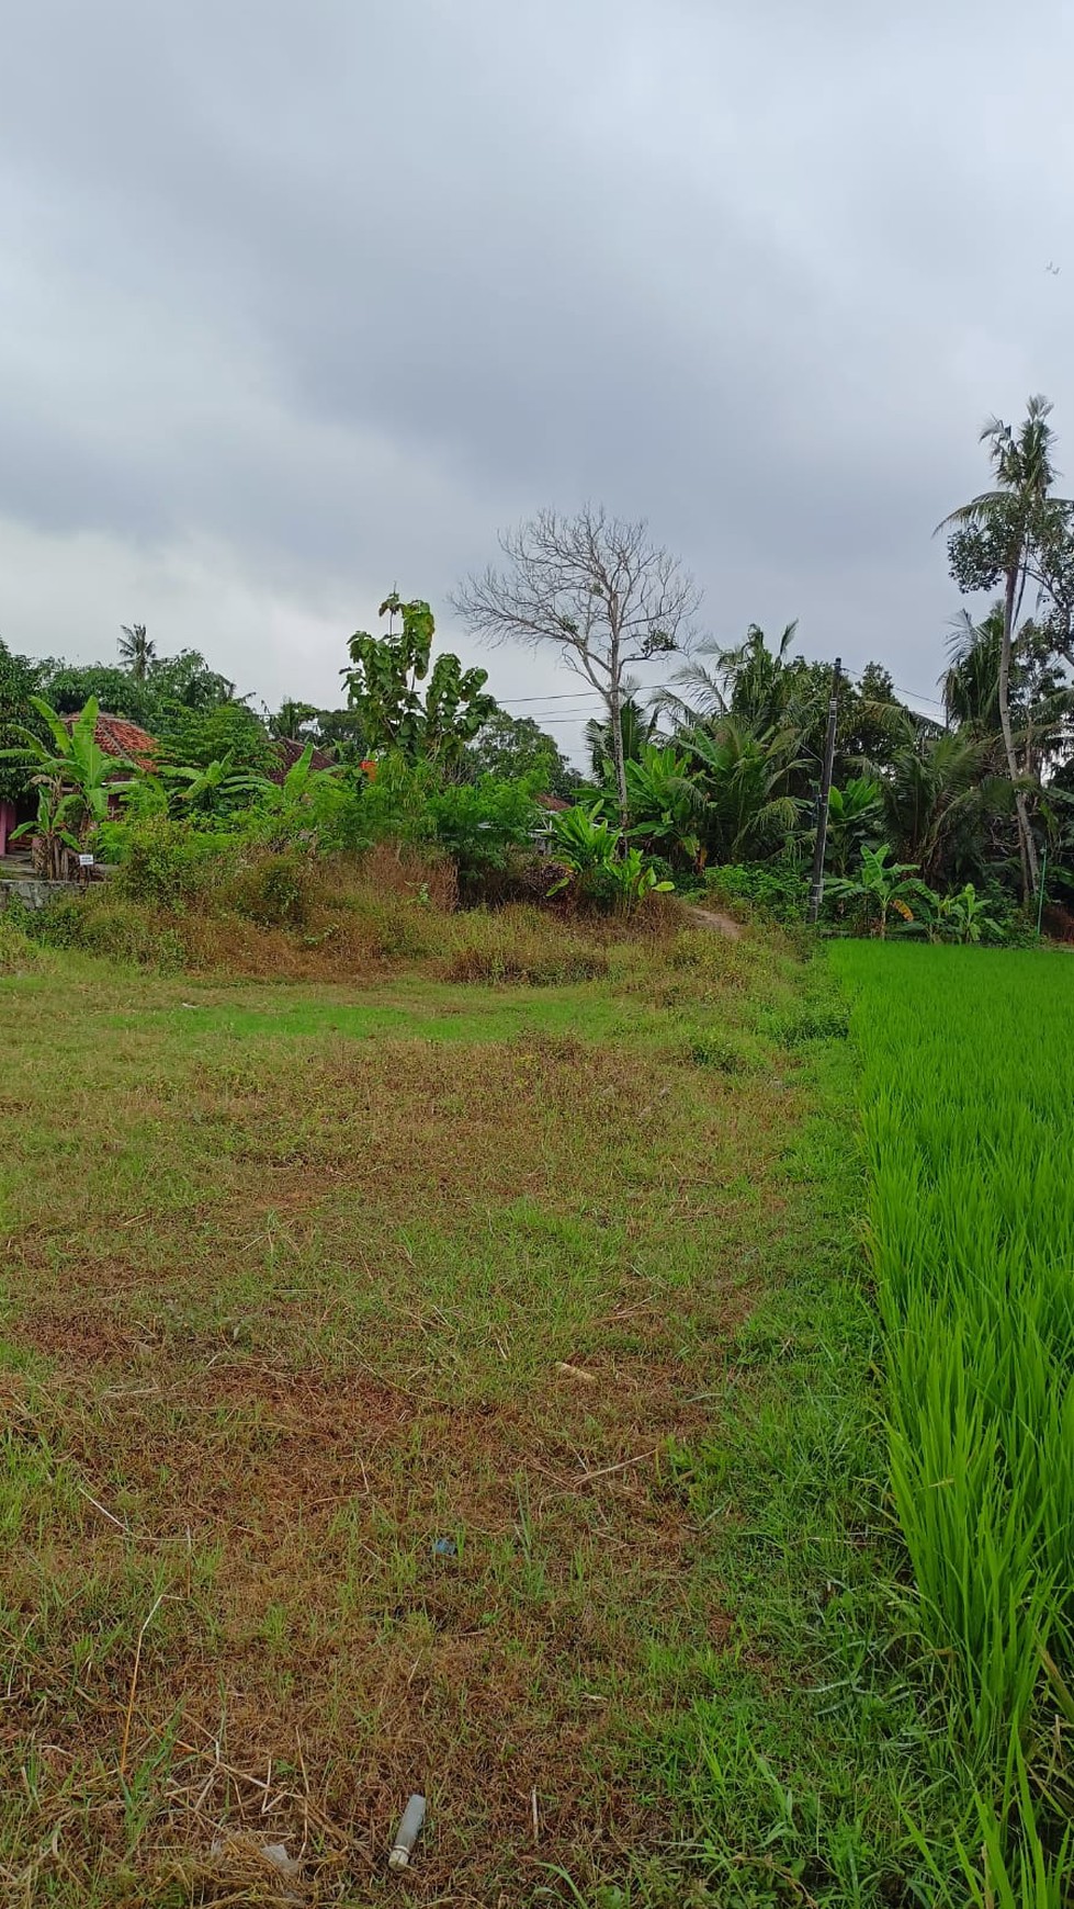
[[8,966],[6,1896],[769,1899],[792,1768],[841,1901],[916,1724],[811,1695],[879,1542],[826,983]]

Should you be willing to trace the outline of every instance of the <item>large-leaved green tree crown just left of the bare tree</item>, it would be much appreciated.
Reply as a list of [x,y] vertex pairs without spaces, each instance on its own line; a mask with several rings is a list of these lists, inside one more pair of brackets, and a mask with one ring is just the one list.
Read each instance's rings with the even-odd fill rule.
[[[460,659],[444,651],[429,674],[433,653],[433,611],[422,599],[404,603],[393,592],[380,605],[391,617],[387,636],[357,630],[349,641],[353,668],[343,672],[351,708],[357,710],[374,756],[393,750],[406,760],[458,767],[471,743],[496,708],[485,693],[488,670],[464,670]],[[395,630],[395,617],[401,628]],[[425,685],[422,699],[418,683]]]

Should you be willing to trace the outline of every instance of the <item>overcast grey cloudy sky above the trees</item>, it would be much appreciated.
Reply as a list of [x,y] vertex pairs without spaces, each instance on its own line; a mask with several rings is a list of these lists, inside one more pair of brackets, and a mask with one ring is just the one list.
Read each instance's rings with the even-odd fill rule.
[[935,693],[984,416],[1049,393],[1074,481],[1072,73],[1064,0],[8,8],[0,632],[334,701],[393,584],[477,655],[452,584],[593,498],[721,640]]

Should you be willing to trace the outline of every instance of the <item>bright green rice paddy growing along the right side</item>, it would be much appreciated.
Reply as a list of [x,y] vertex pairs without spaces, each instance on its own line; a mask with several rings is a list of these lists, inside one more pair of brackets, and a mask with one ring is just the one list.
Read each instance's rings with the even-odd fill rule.
[[1074,970],[843,945],[891,1500],[975,1772],[971,1898],[1066,1899],[1074,1670]]

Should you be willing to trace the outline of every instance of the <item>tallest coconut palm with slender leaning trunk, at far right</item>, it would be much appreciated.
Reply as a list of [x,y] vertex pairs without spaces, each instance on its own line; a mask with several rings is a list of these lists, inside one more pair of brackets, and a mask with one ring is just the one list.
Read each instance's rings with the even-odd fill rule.
[[1042,578],[1047,552],[1070,538],[1068,498],[1053,494],[1055,433],[1051,405],[1030,397],[1022,424],[1013,430],[1002,418],[988,418],[981,443],[988,445],[994,489],[952,510],[937,531],[948,531],[952,575],[963,590],[990,590],[1003,582],[1003,626],[1000,634],[998,716],[1007,775],[1015,790],[1022,890],[1038,884],[1036,842],[1030,825],[1022,769],[1011,724],[1011,655],[1026,582]]

